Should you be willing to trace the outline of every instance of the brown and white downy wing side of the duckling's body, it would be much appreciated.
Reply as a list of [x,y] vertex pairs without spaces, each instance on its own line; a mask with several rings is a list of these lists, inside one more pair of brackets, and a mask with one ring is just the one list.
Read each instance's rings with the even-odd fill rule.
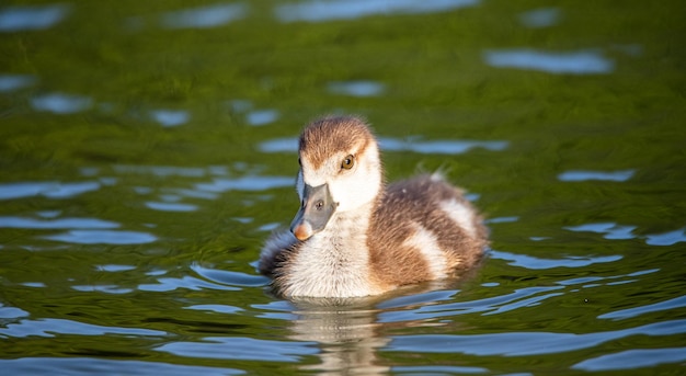
[[459,189],[420,175],[388,186],[367,242],[378,277],[402,285],[470,269],[483,254],[487,230]]

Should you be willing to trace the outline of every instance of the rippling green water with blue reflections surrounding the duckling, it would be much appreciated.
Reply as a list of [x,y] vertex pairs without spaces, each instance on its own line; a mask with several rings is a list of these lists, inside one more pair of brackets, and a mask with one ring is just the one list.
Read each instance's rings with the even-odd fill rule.
[[[402,7],[400,7],[401,4]],[[9,374],[682,374],[682,1],[0,4]],[[389,180],[488,217],[462,282],[346,306],[254,262],[294,139],[369,119]]]

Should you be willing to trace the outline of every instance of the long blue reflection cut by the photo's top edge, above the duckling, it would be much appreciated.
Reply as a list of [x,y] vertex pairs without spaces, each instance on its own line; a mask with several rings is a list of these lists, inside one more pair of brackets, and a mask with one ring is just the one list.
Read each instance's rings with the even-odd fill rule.
[[479,0],[313,0],[278,5],[275,13],[282,22],[323,22],[375,14],[442,12],[478,3]]

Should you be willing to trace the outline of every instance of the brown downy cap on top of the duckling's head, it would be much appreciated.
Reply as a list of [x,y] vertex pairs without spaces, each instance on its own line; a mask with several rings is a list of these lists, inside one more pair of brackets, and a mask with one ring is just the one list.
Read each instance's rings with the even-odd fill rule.
[[299,139],[301,157],[319,169],[338,152],[363,150],[374,139],[365,122],[354,116],[328,116],[305,127]]

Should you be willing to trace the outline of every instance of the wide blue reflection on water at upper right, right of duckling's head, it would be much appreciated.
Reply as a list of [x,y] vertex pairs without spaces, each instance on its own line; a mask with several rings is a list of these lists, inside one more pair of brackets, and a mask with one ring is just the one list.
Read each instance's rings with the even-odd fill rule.
[[549,73],[609,73],[615,64],[593,50],[550,53],[531,48],[488,50],[487,64],[498,68],[540,70]]

